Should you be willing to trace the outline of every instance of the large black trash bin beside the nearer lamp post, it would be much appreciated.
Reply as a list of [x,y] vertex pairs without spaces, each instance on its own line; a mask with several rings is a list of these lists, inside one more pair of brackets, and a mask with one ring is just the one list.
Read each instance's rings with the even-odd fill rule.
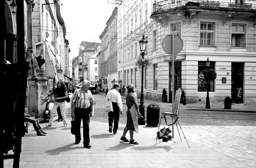
[[146,123],[147,127],[158,127],[159,126],[159,112],[158,105],[152,103],[147,107]]

